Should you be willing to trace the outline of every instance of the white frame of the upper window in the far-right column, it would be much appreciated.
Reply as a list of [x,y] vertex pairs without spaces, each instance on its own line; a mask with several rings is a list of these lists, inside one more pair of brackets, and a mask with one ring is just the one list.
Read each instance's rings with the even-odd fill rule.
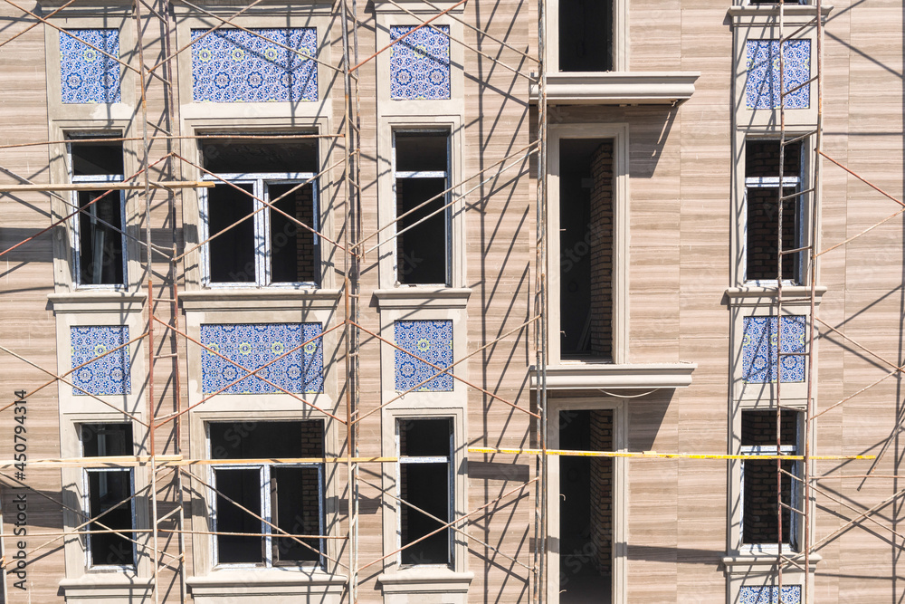
[[[795,135],[792,135],[795,138]],[[770,188],[776,192],[776,199],[779,198],[779,190],[780,190],[780,182],[779,177],[748,177],[748,164],[744,161],[744,158],[747,155],[748,142],[749,141],[775,141],[776,145],[780,144],[780,139],[770,138],[770,137],[757,137],[757,136],[748,136],[745,139],[745,148],[742,150],[741,157],[743,158],[742,163],[744,164],[743,168],[743,179],[744,179],[744,189],[742,192],[743,195],[743,205],[742,205],[742,216],[740,219],[743,223],[742,227],[742,245],[741,245],[741,266],[739,266],[740,271],[744,274],[743,283],[747,285],[761,286],[761,287],[776,287],[776,279],[748,279],[748,189],[750,188]],[[809,181],[807,166],[808,161],[807,158],[807,145],[805,141],[807,139],[799,141],[800,145],[800,158],[799,158],[799,166],[798,166],[798,176],[796,177],[786,177],[782,178],[782,188],[786,187],[795,187],[795,249],[800,247],[805,247],[807,245],[808,236],[808,225],[810,224],[810,217],[806,216],[807,206],[805,205],[805,197],[809,194],[803,194],[802,191],[804,188],[802,187],[802,183],[806,183]],[[779,158],[776,158],[776,168],[779,167]],[[785,216],[784,216],[785,218]],[[798,261],[795,263],[795,271],[797,274],[795,278],[787,278],[787,275],[783,275],[783,285],[799,285],[806,282],[806,266],[805,266],[805,253],[798,253]]]

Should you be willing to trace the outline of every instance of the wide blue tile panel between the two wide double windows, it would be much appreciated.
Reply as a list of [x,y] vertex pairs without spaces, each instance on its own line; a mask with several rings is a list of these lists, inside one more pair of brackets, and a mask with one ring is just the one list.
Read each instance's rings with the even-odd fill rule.
[[[201,352],[201,388],[211,394],[232,384],[222,394],[281,393],[280,388],[293,394],[324,391],[323,339],[318,338],[296,349],[302,342],[316,338],[323,328],[320,323],[243,323],[202,325],[201,343],[224,355],[242,367],[253,371],[278,357],[280,360],[251,377],[248,371],[218,357],[213,352]],[[289,354],[286,354],[287,352]],[[282,356],[285,355],[285,356]],[[275,388],[258,379],[262,376]],[[244,379],[240,379],[243,378]],[[236,383],[233,382],[239,379]]]

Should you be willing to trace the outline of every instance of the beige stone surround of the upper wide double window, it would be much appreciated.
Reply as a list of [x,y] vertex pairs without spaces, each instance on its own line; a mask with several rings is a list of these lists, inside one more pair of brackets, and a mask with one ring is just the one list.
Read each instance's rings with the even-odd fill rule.
[[[230,105],[247,105],[249,103],[230,103]],[[262,103],[268,105],[281,105],[284,103]],[[205,107],[212,107],[213,103],[205,103]],[[220,109],[236,109],[233,107],[220,108]],[[255,135],[255,134],[305,134],[305,133],[316,133],[316,134],[329,134],[332,130],[330,129],[330,120],[326,117],[318,117],[318,118],[300,118],[296,119],[293,117],[287,117],[285,115],[281,117],[258,117],[255,112],[255,117],[243,118],[241,117],[242,108],[238,108],[239,111],[233,112],[233,115],[228,118],[220,118],[220,117],[208,117],[208,118],[197,118],[192,120],[184,120],[186,124],[186,131],[190,132],[193,136],[204,138],[206,135]],[[224,111],[215,111],[219,113],[223,113]],[[336,163],[339,158],[341,158],[342,149],[338,149],[338,142],[335,139],[318,139],[318,170],[316,172],[324,170],[328,166]],[[185,139],[182,141],[181,145],[181,155],[184,158],[188,158],[190,161],[194,162],[198,166],[202,165],[201,158],[201,149],[198,147],[197,139]],[[192,178],[195,180],[201,180],[204,177],[204,174],[201,170],[194,168],[188,164],[183,164],[183,168],[185,171],[186,178]],[[336,168],[337,170],[341,170],[341,165]],[[318,198],[318,225],[319,232],[324,233],[325,235],[331,236],[334,231],[334,214],[336,213],[336,196],[339,190],[339,187],[342,186],[341,181],[337,181],[333,177],[334,171],[329,170],[326,173],[322,174],[318,179],[312,183],[317,185],[317,198]],[[219,181],[217,181],[219,182]],[[182,210],[182,219],[184,224],[185,236],[186,236],[186,250],[194,247],[196,244],[203,241],[201,239],[201,234],[203,229],[200,225],[201,221],[201,194],[198,191],[194,192],[186,192],[183,194],[183,210]],[[251,218],[250,218],[251,220]],[[243,292],[260,292],[263,296],[268,296],[267,293],[269,290],[274,289],[282,289],[288,290],[286,295],[289,297],[298,297],[299,293],[302,292],[311,292],[312,300],[318,299],[320,296],[317,292],[319,290],[326,290],[328,292],[332,291],[333,287],[337,286],[338,277],[335,275],[335,271],[333,270],[334,266],[342,266],[342,257],[339,254],[343,254],[342,250],[338,249],[336,246],[327,244],[326,242],[322,242],[320,244],[320,285],[319,287],[298,287],[294,288],[292,286],[286,285],[266,285],[262,287],[258,287],[255,283],[229,283],[228,288],[224,288],[223,285],[220,288],[224,289],[234,289],[234,290],[242,290]],[[198,248],[194,250],[191,254],[186,255],[185,264],[186,264],[186,291],[212,291],[206,285],[203,285],[203,271],[202,271],[202,262],[203,262],[203,254],[202,248]],[[219,288],[214,288],[219,289]],[[296,292],[293,294],[292,292]],[[186,292],[183,292],[186,293]],[[280,294],[276,294],[279,296]],[[236,321],[239,322],[239,321]]]

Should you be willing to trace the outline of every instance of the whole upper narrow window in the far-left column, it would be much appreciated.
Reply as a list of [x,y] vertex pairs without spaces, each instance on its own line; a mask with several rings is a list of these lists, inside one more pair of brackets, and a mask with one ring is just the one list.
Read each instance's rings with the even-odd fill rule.
[[67,146],[71,182],[98,184],[96,190],[72,192],[72,203],[84,210],[73,220],[76,280],[82,286],[122,285],[126,275],[126,197],[124,191],[108,193],[103,187],[123,180],[122,143],[73,138]]

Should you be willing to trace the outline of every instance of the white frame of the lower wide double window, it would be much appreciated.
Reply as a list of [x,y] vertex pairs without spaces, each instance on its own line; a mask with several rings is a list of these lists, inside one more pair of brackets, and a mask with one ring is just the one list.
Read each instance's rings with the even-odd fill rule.
[[[225,421],[225,420],[224,420]],[[266,421],[266,420],[265,420]],[[276,420],[274,420],[276,421]],[[293,420],[293,421],[305,421],[305,420]],[[213,459],[213,455],[211,453],[211,436],[210,436],[210,426],[211,422],[205,423],[205,433],[207,436],[207,456],[208,459]],[[214,422],[216,423],[216,422]],[[220,563],[220,549],[217,546],[217,535],[212,534],[210,536],[210,547],[211,547],[211,566],[214,569],[271,569],[271,568],[311,568],[316,567],[318,569],[322,569],[324,566],[324,551],[325,551],[325,541],[324,539],[319,540],[319,551],[320,554],[318,556],[318,561],[313,564],[309,561],[303,561],[298,564],[276,564],[273,563],[273,538],[271,534],[273,529],[267,523],[273,523],[272,517],[272,506],[271,506],[271,469],[274,467],[313,467],[318,471],[318,528],[319,534],[323,535],[325,530],[325,498],[324,498],[324,465],[318,463],[311,464],[224,464],[224,465],[211,465],[210,466],[210,474],[208,475],[208,479],[210,480],[210,484],[214,486],[214,489],[217,488],[217,470],[253,470],[257,469],[259,472],[259,476],[261,479],[260,484],[260,496],[261,496],[261,517],[266,521],[261,523],[261,532],[264,535],[260,539],[263,540],[263,561],[260,564],[256,564],[253,562],[250,563]],[[213,490],[208,490],[207,497],[208,509],[210,510],[210,525],[211,532],[217,532],[217,494],[214,493]],[[243,512],[244,513],[244,512]]]

